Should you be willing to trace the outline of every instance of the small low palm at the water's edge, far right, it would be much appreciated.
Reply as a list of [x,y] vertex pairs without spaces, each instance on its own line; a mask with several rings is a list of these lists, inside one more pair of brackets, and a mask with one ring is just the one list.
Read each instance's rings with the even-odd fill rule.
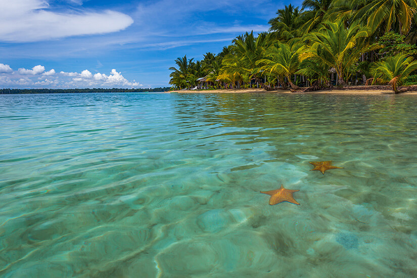
[[388,82],[392,86],[395,94],[400,92],[398,86],[401,85],[410,73],[417,69],[417,61],[408,57],[406,53],[399,53],[388,57],[384,61],[376,62],[370,69],[375,82]]

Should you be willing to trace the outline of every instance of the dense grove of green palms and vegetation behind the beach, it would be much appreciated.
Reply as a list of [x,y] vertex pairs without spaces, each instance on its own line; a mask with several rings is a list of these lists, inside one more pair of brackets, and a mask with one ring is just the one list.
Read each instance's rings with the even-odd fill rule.
[[[269,21],[269,32],[235,38],[202,61],[171,67],[173,88],[241,88],[415,83],[417,0],[305,0]],[[204,77],[203,79],[201,79]]]

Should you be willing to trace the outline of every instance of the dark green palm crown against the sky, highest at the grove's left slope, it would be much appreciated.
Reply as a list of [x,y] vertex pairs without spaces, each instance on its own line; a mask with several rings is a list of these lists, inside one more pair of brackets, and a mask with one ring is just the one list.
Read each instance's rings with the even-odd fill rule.
[[271,27],[269,31],[275,32],[277,38],[290,39],[295,36],[296,32],[300,28],[299,15],[302,11],[298,7],[294,7],[291,4],[285,6],[284,9],[280,9],[276,12],[277,16],[269,20]]

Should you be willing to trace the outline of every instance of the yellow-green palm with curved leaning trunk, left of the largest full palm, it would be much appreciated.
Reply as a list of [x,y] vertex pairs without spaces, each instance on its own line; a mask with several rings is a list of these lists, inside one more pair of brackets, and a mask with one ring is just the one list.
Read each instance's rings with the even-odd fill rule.
[[272,76],[285,76],[293,89],[299,89],[291,81],[291,75],[300,65],[298,52],[291,50],[287,44],[276,43],[266,53],[266,56],[257,62],[258,65],[262,65],[260,70]]

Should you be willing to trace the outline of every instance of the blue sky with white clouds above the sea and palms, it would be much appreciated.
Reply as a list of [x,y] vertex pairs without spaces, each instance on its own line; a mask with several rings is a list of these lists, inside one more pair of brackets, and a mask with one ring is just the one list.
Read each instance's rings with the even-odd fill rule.
[[0,0],[0,88],[168,86],[174,59],[266,31],[289,3]]

